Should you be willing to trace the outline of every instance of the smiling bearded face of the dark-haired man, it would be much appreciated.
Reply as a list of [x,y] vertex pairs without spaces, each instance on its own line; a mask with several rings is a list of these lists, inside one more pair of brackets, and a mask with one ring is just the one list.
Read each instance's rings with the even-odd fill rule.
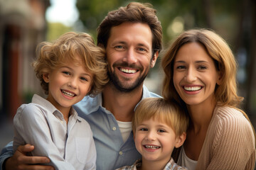
[[112,27],[106,52],[110,81],[122,92],[142,86],[158,57],[158,52],[152,57],[152,33],[145,23]]

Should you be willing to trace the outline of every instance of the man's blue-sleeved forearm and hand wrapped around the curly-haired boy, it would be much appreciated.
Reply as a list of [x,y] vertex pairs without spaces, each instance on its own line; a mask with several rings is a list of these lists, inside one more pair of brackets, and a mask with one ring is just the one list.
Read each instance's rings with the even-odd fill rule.
[[26,152],[31,152],[34,149],[31,145],[23,145],[18,147],[16,152],[13,152],[12,142],[9,142],[1,151],[0,169],[53,169],[52,166],[37,165],[50,162],[47,157],[28,157]]

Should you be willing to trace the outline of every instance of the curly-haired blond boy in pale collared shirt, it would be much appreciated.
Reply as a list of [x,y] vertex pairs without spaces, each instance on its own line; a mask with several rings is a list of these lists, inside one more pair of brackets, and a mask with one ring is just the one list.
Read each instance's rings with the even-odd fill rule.
[[55,169],[96,169],[96,150],[90,125],[73,105],[95,96],[107,84],[105,52],[87,33],[65,33],[38,45],[33,62],[47,98],[34,95],[14,117],[14,151],[35,146],[32,155],[46,156]]

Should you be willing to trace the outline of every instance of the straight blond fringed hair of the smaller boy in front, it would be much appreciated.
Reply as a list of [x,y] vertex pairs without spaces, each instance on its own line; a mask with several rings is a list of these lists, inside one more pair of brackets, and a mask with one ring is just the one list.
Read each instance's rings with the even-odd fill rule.
[[164,98],[144,98],[139,103],[132,119],[134,134],[139,123],[150,118],[169,125],[176,137],[182,135],[188,128],[188,114],[178,106],[178,103],[166,101]]

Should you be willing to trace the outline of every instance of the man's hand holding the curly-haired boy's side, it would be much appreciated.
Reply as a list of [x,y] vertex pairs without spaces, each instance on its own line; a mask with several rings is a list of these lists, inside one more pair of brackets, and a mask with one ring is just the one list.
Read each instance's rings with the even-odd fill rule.
[[27,152],[33,151],[32,145],[19,146],[13,157],[6,159],[5,169],[6,170],[21,170],[21,169],[38,169],[38,170],[50,170],[54,169],[53,166],[39,165],[49,163],[48,157],[30,157],[26,156]]

